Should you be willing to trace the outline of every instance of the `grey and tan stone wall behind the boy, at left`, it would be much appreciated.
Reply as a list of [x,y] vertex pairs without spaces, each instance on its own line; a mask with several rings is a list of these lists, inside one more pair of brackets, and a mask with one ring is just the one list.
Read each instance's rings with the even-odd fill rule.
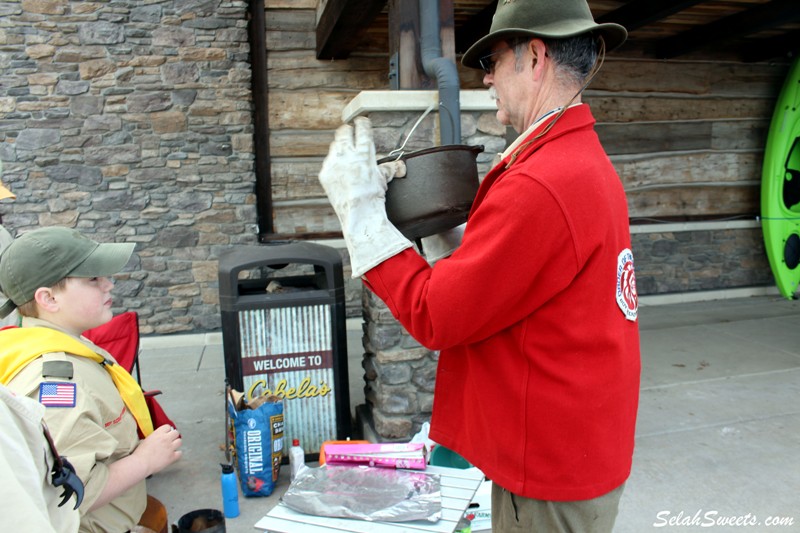
[[256,242],[247,3],[0,3],[0,159],[15,232],[137,243],[118,309],[219,327],[220,250]]

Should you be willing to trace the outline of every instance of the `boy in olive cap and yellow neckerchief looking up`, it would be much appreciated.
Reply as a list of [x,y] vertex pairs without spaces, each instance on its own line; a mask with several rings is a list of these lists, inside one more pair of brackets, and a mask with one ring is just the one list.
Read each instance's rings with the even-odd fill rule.
[[134,529],[147,506],[145,479],[181,456],[174,428],[153,429],[138,383],[81,336],[111,320],[110,276],[133,248],[47,227],[0,256],[8,298],[0,317],[14,309],[22,316],[21,328],[0,331],[0,381],[46,407],[60,454],[86,485],[80,531]]

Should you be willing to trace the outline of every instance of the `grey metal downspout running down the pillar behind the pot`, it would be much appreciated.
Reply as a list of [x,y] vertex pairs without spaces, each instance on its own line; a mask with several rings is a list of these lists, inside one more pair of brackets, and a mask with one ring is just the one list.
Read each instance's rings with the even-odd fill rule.
[[442,57],[439,2],[419,0],[422,67],[439,88],[439,126],[442,145],[461,144],[461,103],[458,69]]

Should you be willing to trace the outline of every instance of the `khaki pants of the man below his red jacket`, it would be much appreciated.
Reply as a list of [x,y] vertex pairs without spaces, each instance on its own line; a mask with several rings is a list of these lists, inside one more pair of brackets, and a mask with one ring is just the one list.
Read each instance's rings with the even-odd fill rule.
[[611,533],[623,483],[591,500],[553,502],[512,494],[492,484],[492,533]]

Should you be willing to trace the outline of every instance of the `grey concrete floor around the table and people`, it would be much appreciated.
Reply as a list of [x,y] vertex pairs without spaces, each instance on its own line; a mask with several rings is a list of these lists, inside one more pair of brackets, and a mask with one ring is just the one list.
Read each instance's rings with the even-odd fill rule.
[[[800,531],[800,302],[643,299],[640,326],[636,452],[615,532]],[[348,340],[355,407],[364,401],[360,321],[348,322]],[[148,481],[150,493],[172,523],[222,509],[221,335],[145,337],[140,360],[145,389],[164,391],[161,403],[184,437],[183,459]],[[240,497],[229,533],[255,531],[288,486],[288,470],[272,496]]]

